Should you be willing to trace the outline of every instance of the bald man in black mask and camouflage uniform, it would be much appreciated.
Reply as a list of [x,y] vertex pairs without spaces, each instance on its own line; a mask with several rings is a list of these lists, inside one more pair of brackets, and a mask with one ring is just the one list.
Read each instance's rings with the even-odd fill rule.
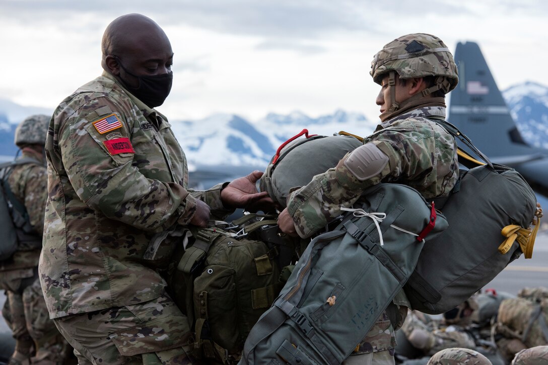
[[50,317],[81,364],[185,364],[190,327],[164,277],[210,215],[269,202],[255,171],[187,189],[184,152],[154,109],[172,86],[168,37],[140,14],[102,39],[102,75],[56,108],[39,274]]

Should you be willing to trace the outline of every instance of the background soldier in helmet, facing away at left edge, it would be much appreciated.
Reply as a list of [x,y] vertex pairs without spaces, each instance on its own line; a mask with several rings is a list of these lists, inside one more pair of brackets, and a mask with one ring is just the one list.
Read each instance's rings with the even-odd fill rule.
[[2,315],[16,339],[9,364],[61,364],[72,351],[49,319],[38,281],[47,199],[44,143],[49,119],[48,115],[32,115],[18,125],[15,144],[21,156],[1,172],[18,237],[18,251],[0,262],[0,285],[7,293]]

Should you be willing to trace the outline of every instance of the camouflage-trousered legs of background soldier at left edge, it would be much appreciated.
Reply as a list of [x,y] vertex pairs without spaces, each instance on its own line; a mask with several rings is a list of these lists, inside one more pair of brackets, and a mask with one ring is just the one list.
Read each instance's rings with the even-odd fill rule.
[[0,277],[7,297],[2,315],[16,340],[13,360],[42,365],[69,361],[72,349],[49,319],[37,271],[3,271]]

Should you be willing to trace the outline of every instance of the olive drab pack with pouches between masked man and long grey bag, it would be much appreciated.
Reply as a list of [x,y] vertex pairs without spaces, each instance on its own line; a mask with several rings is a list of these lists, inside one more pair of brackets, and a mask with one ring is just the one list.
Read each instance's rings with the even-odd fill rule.
[[185,292],[174,300],[186,308],[196,358],[236,363],[250,329],[278,296],[279,252],[293,239],[278,235],[276,222],[275,215],[247,214],[191,230],[175,274]]

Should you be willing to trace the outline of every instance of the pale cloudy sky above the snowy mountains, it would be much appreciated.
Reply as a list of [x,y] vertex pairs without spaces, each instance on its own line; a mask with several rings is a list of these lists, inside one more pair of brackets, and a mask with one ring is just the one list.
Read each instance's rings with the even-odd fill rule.
[[0,0],[0,98],[53,110],[99,76],[102,33],[141,13],[168,34],[170,119],[335,109],[378,118],[373,55],[403,34],[432,33],[454,51],[479,43],[499,88],[548,85],[548,3],[540,0]]

